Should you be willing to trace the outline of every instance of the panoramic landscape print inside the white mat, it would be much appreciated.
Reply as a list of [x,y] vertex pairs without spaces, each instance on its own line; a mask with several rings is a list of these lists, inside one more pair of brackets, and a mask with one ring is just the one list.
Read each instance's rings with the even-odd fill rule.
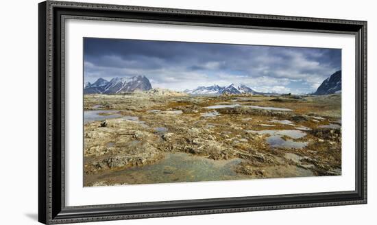
[[341,49],[84,38],[84,187],[341,175]]

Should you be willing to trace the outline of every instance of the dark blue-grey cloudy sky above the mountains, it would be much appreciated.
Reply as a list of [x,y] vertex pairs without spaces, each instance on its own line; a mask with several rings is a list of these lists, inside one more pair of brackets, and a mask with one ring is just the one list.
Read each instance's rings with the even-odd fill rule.
[[84,38],[84,81],[145,75],[175,91],[246,84],[255,91],[311,93],[341,69],[341,49]]

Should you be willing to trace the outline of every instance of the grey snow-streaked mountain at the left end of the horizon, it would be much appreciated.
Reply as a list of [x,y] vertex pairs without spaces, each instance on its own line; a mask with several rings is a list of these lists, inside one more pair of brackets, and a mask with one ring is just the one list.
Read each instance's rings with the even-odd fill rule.
[[147,91],[151,88],[152,86],[148,78],[142,75],[138,75],[132,78],[112,78],[110,82],[102,78],[99,78],[93,84],[89,83],[84,88],[84,93],[116,94],[133,92],[136,90]]

